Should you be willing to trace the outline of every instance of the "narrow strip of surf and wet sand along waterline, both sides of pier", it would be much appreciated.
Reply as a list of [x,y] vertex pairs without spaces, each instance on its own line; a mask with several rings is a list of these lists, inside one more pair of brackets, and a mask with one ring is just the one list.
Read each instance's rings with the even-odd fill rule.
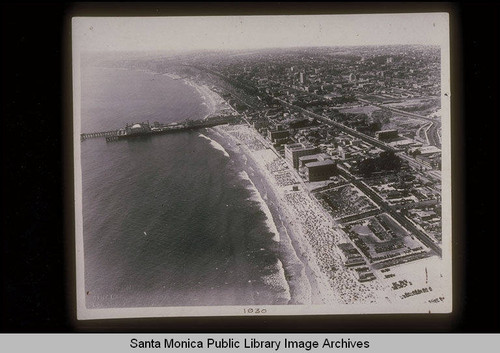
[[[167,76],[171,79],[182,80],[198,92],[204,101],[203,104],[208,109],[205,119],[228,111],[235,113],[234,109],[206,84],[199,84],[191,78]],[[339,298],[332,290],[329,278],[320,269],[321,264],[318,264],[315,251],[311,248],[308,239],[303,236],[300,225],[296,224],[297,222],[294,223],[297,217],[296,213],[294,213],[293,209],[290,209],[282,190],[280,190],[280,186],[276,184],[273,175],[266,168],[262,158],[255,155],[256,151],[252,151],[244,141],[224,131],[221,126],[211,128],[208,131],[215,132],[218,135],[216,137],[217,141],[212,140],[212,147],[222,150],[226,157],[229,156],[224,147],[228,147],[236,155],[245,158],[244,173],[246,175],[243,179],[248,177],[248,180],[256,189],[260,200],[254,201],[261,204],[260,207],[266,214],[268,223],[273,224],[272,226],[268,224],[268,226],[270,231],[276,234],[274,238],[279,243],[279,262],[282,266],[281,272],[284,271],[284,277],[289,286],[289,304],[320,305],[339,303]],[[255,134],[254,137],[258,135],[256,131],[253,131],[253,133]],[[203,134],[201,136],[207,138]],[[212,137],[211,134],[208,134],[208,136],[209,139]]]

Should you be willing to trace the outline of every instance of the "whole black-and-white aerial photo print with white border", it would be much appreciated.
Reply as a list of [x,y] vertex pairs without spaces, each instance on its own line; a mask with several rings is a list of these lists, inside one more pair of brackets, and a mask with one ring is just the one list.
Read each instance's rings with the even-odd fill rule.
[[448,35],[73,18],[78,318],[451,312]]

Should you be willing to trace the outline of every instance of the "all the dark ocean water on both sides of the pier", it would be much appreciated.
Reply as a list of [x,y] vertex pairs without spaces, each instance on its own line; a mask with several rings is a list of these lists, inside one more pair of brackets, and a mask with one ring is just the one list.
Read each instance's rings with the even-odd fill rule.
[[[84,132],[207,112],[182,81],[82,71]],[[88,308],[289,301],[272,216],[238,156],[210,136],[201,130],[82,142]]]

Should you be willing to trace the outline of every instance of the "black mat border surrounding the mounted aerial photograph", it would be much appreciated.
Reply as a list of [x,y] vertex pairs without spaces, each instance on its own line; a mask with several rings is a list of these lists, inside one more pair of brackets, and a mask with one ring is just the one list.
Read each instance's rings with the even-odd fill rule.
[[[454,313],[77,322],[72,299],[71,16],[352,12],[450,13]],[[2,5],[2,208],[6,211],[0,332],[500,332],[495,237],[499,130],[493,119],[499,116],[498,20],[493,3],[472,2]],[[489,246],[478,239],[488,239]]]

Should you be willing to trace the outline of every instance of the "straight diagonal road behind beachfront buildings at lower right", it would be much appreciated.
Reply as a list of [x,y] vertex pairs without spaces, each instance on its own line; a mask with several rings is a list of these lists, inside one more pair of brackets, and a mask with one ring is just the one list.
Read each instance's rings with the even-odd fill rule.
[[441,254],[441,248],[439,245],[434,243],[434,241],[429,238],[427,234],[422,232],[420,229],[415,227],[413,223],[411,223],[406,217],[401,215],[400,213],[396,212],[391,206],[387,204],[387,202],[384,201],[375,191],[373,191],[372,188],[370,188],[368,185],[366,185],[364,182],[362,182],[359,179],[356,179],[354,175],[349,173],[348,171],[338,168],[339,174],[345,177],[347,180],[349,180],[351,183],[353,183],[358,189],[360,189],[362,192],[364,192],[370,200],[375,202],[384,212],[389,213],[392,218],[394,218],[397,222],[399,222],[403,227],[405,227],[407,230],[409,230],[412,235],[418,238],[424,244],[427,246],[429,249],[434,251],[439,257],[442,256]]

